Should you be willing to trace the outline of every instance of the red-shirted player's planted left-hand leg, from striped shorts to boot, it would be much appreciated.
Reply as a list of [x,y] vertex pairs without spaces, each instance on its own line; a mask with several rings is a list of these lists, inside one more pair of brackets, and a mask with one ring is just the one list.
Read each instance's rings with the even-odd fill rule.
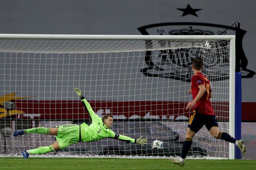
[[197,133],[197,131],[199,131],[202,127],[203,127],[202,115],[194,111],[194,114],[191,116],[189,120],[187,133],[185,135],[185,141],[183,143],[183,148],[181,152],[181,157],[179,159],[171,158],[170,160],[173,163],[178,164],[180,166],[184,165],[185,158],[192,145],[192,139]]

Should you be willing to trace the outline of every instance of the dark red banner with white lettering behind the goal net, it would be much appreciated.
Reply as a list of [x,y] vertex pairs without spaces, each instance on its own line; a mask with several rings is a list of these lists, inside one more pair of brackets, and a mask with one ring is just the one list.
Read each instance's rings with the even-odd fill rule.
[[[89,101],[92,109],[99,116],[112,114],[115,119],[188,119],[191,112],[185,110],[187,102],[171,101]],[[88,119],[86,109],[80,101],[16,101],[18,119]],[[215,102],[213,109],[218,120],[228,117],[228,103]],[[253,109],[254,108],[254,109]],[[256,103],[242,103],[242,120],[256,120]]]

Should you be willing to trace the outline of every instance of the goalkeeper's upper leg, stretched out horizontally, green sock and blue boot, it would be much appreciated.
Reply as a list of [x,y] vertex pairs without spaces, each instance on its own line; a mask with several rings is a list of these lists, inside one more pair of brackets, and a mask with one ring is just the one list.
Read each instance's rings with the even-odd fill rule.
[[21,129],[21,130],[16,130],[13,135],[18,136],[18,135],[23,135],[26,133],[44,133],[48,135],[57,135],[59,128],[44,128],[44,127],[38,127],[38,128],[32,128],[32,129]]

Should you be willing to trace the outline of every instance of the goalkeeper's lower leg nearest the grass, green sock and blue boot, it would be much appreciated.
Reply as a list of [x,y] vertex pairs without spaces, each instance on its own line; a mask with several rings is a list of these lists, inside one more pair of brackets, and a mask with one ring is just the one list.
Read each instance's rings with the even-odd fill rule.
[[48,152],[53,152],[55,150],[59,150],[58,141],[55,141],[50,146],[42,146],[42,147],[31,149],[31,150],[23,150],[21,153],[23,155],[23,158],[27,159],[29,157],[29,154],[45,154]]

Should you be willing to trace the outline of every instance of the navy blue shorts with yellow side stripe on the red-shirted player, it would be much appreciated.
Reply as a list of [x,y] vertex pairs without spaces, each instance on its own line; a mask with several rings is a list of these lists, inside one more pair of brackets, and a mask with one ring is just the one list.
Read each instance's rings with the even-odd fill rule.
[[206,114],[201,114],[197,112],[197,109],[193,111],[193,115],[189,119],[189,124],[188,128],[192,130],[193,132],[197,133],[204,125],[208,130],[212,126],[217,126],[218,127],[218,122],[216,120],[216,116],[214,115],[206,115]]

